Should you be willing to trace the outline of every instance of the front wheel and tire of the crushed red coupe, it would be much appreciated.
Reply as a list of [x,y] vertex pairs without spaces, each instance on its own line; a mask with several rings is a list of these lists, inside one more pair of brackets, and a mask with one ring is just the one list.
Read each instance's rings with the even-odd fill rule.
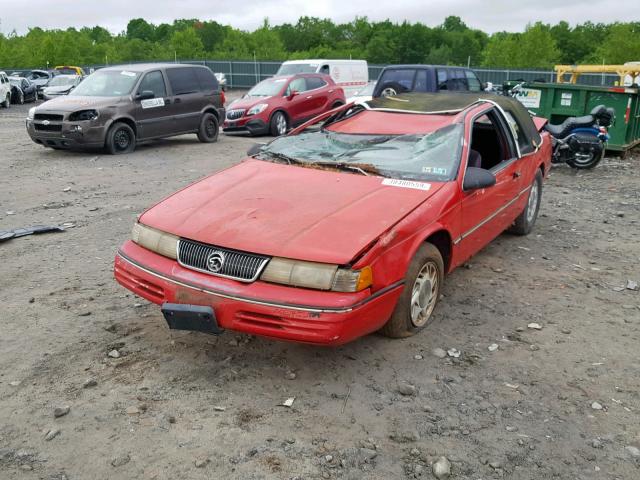
[[425,243],[411,260],[402,294],[380,333],[386,337],[405,338],[425,328],[438,304],[443,281],[442,255],[435,245]]

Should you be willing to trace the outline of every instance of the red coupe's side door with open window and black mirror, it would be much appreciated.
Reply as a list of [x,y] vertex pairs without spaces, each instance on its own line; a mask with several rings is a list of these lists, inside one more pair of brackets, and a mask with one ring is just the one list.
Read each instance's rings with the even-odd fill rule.
[[[497,108],[482,110],[468,125],[466,169],[485,168],[494,174],[492,187],[462,192],[460,236],[456,240],[461,261],[471,257],[500,235],[519,213],[522,196],[522,159],[513,134]],[[497,157],[497,158],[496,158]],[[461,179],[460,188],[462,188]],[[525,192],[526,193],[526,192]]]

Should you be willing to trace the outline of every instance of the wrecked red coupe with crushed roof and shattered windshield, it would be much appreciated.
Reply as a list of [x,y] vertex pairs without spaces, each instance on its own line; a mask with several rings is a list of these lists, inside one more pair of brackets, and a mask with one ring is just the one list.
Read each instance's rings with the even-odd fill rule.
[[324,345],[412,335],[446,273],[536,221],[546,121],[482,95],[322,115],[143,213],[115,277],[171,328]]

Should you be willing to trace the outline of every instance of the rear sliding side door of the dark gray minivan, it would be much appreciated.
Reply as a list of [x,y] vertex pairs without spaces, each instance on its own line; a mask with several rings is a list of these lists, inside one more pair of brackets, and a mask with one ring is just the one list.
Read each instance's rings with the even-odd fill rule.
[[195,132],[200,125],[203,94],[194,67],[166,69],[171,87],[175,133]]

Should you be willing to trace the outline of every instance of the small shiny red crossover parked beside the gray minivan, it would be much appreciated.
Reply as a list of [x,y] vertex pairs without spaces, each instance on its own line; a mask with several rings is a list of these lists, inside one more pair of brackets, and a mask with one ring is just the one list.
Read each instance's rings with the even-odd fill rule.
[[272,77],[229,105],[222,131],[276,137],[344,103],[342,88],[329,75]]

